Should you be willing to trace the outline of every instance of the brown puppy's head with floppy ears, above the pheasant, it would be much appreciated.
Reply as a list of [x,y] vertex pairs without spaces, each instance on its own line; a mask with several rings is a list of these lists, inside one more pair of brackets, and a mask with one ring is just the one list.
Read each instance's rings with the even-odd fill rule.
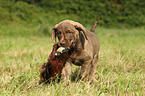
[[80,36],[84,40],[87,39],[85,27],[71,20],[64,20],[52,29],[53,42],[55,43],[58,37],[58,45],[63,47],[74,47]]

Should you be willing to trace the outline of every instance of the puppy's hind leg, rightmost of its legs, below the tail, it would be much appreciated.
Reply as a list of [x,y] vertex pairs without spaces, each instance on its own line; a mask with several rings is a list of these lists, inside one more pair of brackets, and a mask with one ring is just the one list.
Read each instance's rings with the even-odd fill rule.
[[94,77],[95,77],[97,62],[98,62],[98,54],[94,56],[92,64],[91,64],[90,73],[89,73],[89,83],[95,82]]

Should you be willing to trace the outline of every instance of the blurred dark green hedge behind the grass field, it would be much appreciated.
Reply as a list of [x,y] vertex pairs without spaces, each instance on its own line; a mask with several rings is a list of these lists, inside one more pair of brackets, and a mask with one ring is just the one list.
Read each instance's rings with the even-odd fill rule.
[[[0,23],[54,25],[64,19],[104,27],[145,25],[144,0],[0,0]],[[41,25],[42,26],[42,25]]]

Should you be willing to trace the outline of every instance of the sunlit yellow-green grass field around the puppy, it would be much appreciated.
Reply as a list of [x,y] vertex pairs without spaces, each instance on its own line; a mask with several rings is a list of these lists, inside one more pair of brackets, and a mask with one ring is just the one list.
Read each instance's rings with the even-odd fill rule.
[[[39,85],[39,67],[52,49],[41,26],[0,26],[0,95],[143,96],[145,93],[145,29],[98,27],[101,42],[97,82]],[[51,27],[50,27],[51,28]],[[87,27],[89,29],[90,27]],[[48,29],[49,32],[51,29]],[[38,34],[39,31],[42,34]],[[73,66],[72,73],[76,69]]]

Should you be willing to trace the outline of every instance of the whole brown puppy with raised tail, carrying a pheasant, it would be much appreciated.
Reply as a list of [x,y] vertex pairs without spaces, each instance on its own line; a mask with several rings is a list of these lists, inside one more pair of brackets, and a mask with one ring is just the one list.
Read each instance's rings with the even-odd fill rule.
[[75,21],[64,20],[56,24],[52,29],[52,40],[55,43],[58,37],[58,45],[62,47],[73,47],[70,57],[62,69],[62,80],[69,78],[71,74],[71,63],[81,66],[78,80],[94,80],[96,71],[100,42],[94,34],[98,20],[90,31]]

